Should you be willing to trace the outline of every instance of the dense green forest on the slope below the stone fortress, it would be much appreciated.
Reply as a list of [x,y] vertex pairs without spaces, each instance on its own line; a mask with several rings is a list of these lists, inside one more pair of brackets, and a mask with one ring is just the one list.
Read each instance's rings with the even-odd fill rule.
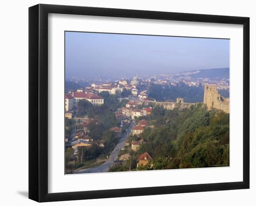
[[[229,166],[229,114],[207,111],[202,104],[190,109],[165,110],[156,106],[147,129],[130,141],[145,141],[138,151],[130,151],[127,164],[111,171],[158,170]],[[136,167],[139,154],[147,152],[153,159],[146,166]]]

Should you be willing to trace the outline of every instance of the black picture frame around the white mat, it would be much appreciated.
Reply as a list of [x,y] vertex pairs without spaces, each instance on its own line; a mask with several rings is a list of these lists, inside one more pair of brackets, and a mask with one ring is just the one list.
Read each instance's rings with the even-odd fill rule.
[[[182,186],[48,193],[48,13],[243,25],[243,181]],[[29,8],[29,199],[99,199],[249,188],[249,18],[39,4]]]

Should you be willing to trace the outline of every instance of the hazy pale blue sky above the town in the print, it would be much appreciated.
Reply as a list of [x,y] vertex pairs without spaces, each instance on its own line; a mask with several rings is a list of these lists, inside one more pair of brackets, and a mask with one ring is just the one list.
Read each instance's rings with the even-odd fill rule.
[[132,77],[229,67],[229,40],[66,32],[66,76]]

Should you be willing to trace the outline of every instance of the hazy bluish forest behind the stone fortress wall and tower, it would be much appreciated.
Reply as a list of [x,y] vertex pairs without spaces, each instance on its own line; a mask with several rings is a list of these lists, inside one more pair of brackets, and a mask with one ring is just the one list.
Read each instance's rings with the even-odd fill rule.
[[[176,98],[184,98],[185,102],[202,102],[204,87],[188,86],[179,83],[178,86],[152,85],[149,88],[148,97],[156,101],[176,101]],[[223,97],[229,97],[229,90],[219,90]]]

